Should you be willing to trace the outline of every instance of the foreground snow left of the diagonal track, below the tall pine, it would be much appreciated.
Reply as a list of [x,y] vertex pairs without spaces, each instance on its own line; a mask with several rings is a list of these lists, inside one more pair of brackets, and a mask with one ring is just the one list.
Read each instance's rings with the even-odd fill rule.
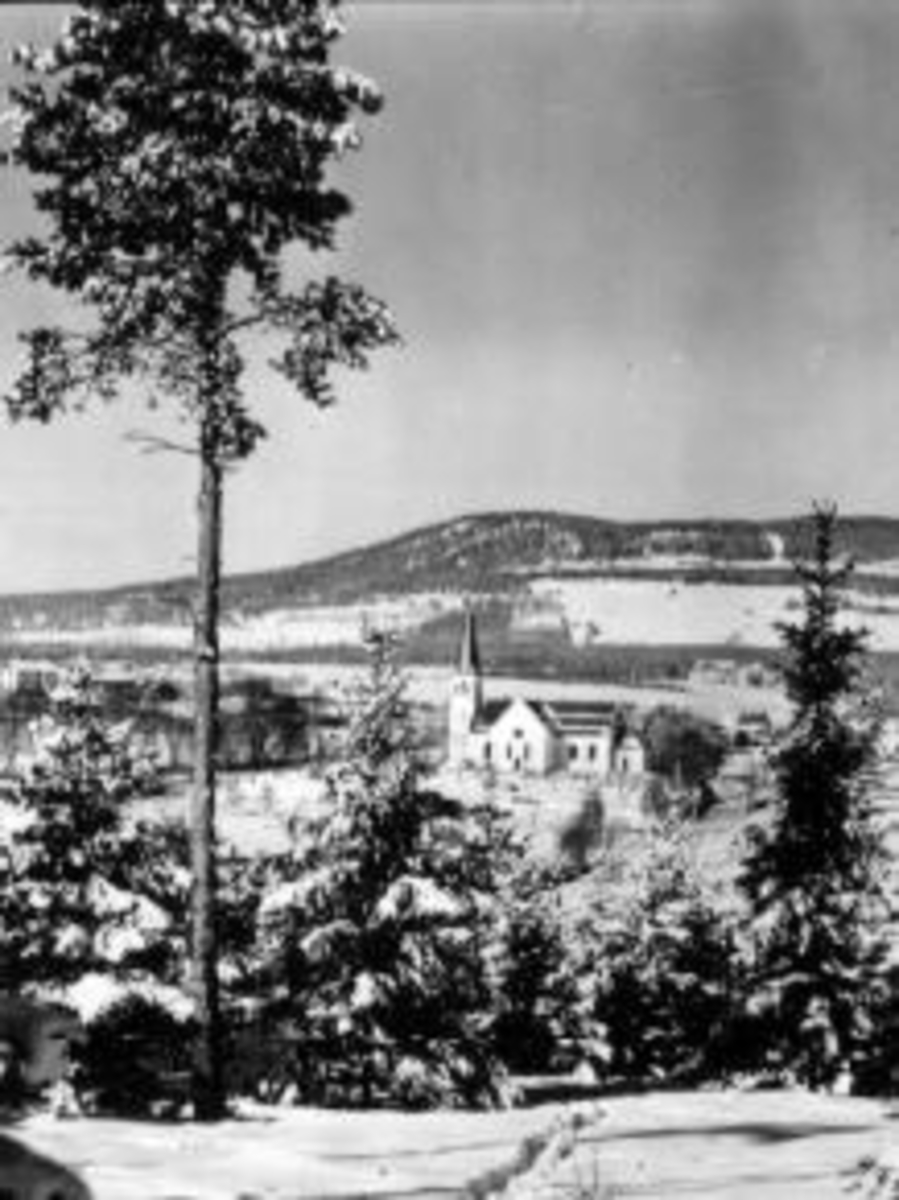
[[206,1127],[40,1116],[14,1134],[76,1170],[95,1200],[437,1200],[499,1187],[531,1165],[528,1145],[551,1147],[568,1120],[561,1106],[254,1109]]

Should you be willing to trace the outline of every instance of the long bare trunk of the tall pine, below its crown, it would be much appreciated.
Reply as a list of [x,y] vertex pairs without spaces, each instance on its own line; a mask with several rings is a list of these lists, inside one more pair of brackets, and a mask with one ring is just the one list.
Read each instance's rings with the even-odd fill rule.
[[198,1021],[194,1116],[224,1112],[216,930],[215,800],[218,742],[218,607],[222,570],[222,466],[211,437],[200,438],[197,614],[194,625],[194,766],[191,805],[191,968]]

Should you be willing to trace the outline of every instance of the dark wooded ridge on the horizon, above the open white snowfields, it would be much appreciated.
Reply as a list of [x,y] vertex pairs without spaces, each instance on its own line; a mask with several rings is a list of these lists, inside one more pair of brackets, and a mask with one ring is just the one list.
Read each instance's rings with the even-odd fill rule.
[[[415,529],[292,568],[230,576],[224,610],[360,604],[409,594],[509,595],[552,576],[785,583],[808,521],[615,522],[556,512],[491,512]],[[899,520],[846,517],[844,548],[869,588],[899,592]],[[190,624],[193,583],[164,580],[96,592],[0,598],[0,630]]]

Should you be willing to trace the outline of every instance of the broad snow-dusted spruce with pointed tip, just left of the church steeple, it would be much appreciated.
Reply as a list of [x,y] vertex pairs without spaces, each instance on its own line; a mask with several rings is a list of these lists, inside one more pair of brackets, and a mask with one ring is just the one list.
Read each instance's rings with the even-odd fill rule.
[[263,906],[271,1001],[304,1031],[308,1102],[489,1103],[484,950],[504,833],[426,786],[391,638],[370,647],[330,811]]

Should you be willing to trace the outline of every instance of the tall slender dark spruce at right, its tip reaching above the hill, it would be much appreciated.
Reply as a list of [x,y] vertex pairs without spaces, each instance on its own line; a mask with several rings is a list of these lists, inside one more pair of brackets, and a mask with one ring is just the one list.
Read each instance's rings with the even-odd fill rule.
[[840,622],[852,564],[837,515],[819,508],[797,563],[803,617],[780,626],[792,720],[773,763],[777,804],[751,832],[742,886],[756,940],[750,1012],[768,1066],[813,1086],[852,1069],[879,994],[881,848],[871,823],[876,724],[865,634]]

